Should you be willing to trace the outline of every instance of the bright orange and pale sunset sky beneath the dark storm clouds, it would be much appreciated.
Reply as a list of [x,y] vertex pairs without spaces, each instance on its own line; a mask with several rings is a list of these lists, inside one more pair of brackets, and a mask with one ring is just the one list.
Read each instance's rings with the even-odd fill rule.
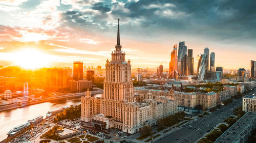
[[[203,30],[195,30],[193,33],[177,32],[183,27],[175,30],[159,28],[157,24],[161,27],[160,23],[142,26],[141,24],[147,22],[145,16],[132,18],[114,13],[118,7],[122,7],[123,13],[131,13],[132,10],[125,7],[132,3],[130,1],[126,4],[121,1],[106,1],[103,6],[110,8],[105,8],[104,12],[94,6],[99,5],[99,1],[78,5],[75,1],[50,0],[33,2],[33,7],[26,7],[25,3],[32,5],[32,1],[26,0],[0,2],[0,65],[35,69],[72,67],[73,61],[82,61],[84,66],[104,67],[105,61],[111,58],[111,52],[115,48],[117,18],[120,18],[122,50],[126,53],[126,60],[131,60],[132,68],[155,68],[161,63],[164,68],[168,68],[173,45],[179,41],[185,41],[188,49],[193,49],[194,68],[197,68],[197,55],[203,53],[205,47],[210,52],[215,52],[215,67],[249,69],[250,60],[256,60],[255,41],[245,40],[243,37],[218,38],[222,34],[217,32],[217,36],[203,33],[214,26],[205,24],[199,27]],[[160,20],[166,17],[176,21],[180,20],[179,17],[189,19],[191,14],[185,11],[172,15],[173,5],[163,5],[167,10],[159,8],[159,11],[164,11],[162,17],[158,16]],[[156,6],[144,5],[143,8],[158,8]],[[80,13],[76,16],[83,14],[83,19],[70,16],[78,12]],[[154,15],[158,14],[158,11],[154,12]],[[79,20],[84,21],[79,23]],[[185,26],[195,23],[190,24]],[[221,32],[226,34],[229,30]]]

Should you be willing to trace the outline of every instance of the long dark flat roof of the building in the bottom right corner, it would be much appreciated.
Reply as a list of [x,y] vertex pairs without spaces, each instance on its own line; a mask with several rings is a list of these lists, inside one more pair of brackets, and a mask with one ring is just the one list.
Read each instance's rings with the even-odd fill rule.
[[228,128],[219,138],[216,139],[218,142],[233,142],[237,139],[242,131],[248,126],[248,124],[256,119],[256,112],[247,112],[240,118],[236,123],[234,123],[230,128]]

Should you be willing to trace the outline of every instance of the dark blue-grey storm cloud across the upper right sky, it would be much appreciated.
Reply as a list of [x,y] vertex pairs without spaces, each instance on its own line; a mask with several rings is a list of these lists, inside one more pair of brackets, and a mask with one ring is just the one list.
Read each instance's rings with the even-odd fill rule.
[[[121,1],[119,1],[121,2]],[[256,1],[250,0],[226,0],[226,1],[156,1],[140,0],[122,1],[122,4],[100,2],[91,6],[92,10],[98,10],[101,15],[92,13],[66,12],[63,19],[74,19],[79,25],[87,21],[98,23],[101,27],[108,19],[106,12],[110,12],[113,17],[119,17],[131,25],[136,19],[137,29],[147,28],[151,31],[164,31],[166,33],[184,33],[218,39],[236,38],[256,38]],[[108,5],[107,5],[108,4]],[[71,16],[72,15],[72,16]],[[94,17],[90,17],[90,16]],[[91,23],[87,23],[88,26]],[[100,26],[98,28],[100,28]],[[94,25],[95,27],[95,25]],[[125,26],[124,26],[125,27]],[[148,32],[144,34],[147,35]]]

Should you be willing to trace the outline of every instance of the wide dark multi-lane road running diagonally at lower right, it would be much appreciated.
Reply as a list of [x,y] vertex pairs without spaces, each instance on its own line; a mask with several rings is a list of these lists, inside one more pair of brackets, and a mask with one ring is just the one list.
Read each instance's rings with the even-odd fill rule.
[[[256,90],[251,91],[250,93],[246,95],[251,95],[255,93]],[[174,143],[181,143],[181,142],[187,142],[192,143],[196,142],[198,139],[200,139],[204,134],[208,134],[212,128],[214,128],[219,123],[223,123],[223,121],[230,117],[233,114],[233,109],[239,107],[242,105],[242,98],[239,98],[237,100],[233,100],[232,103],[222,107],[221,109],[216,110],[213,113],[210,113],[208,116],[204,118],[198,118],[197,121],[194,121],[193,123],[189,124],[192,126],[191,129],[189,129],[189,125],[185,125],[180,130],[177,130],[175,132],[172,132],[154,142],[174,142]]]

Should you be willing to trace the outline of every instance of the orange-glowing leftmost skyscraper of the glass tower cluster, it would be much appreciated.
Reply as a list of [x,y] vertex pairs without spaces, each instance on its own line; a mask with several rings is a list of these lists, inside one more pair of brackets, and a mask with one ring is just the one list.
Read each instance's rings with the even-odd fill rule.
[[[174,50],[172,51],[172,53],[170,53],[170,63],[169,63],[169,75],[171,75],[172,73],[176,73],[177,72],[177,62],[178,62],[178,58],[177,58],[177,44],[174,45]],[[176,75],[178,76],[178,75]],[[175,77],[176,77],[175,76]]]

